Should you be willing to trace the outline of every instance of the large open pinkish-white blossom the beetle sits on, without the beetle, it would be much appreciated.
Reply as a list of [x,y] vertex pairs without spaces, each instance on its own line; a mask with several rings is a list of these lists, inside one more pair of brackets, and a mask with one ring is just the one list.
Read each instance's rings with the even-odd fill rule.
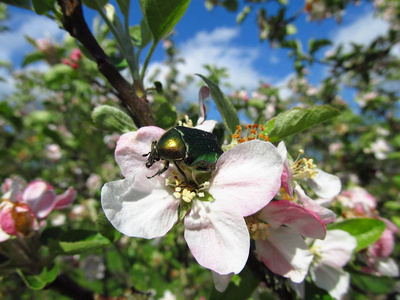
[[193,173],[187,181],[173,166],[148,178],[161,163],[147,169],[143,154],[163,133],[149,126],[121,136],[115,158],[125,179],[102,188],[107,218],[125,235],[147,239],[164,236],[183,219],[185,240],[200,265],[219,274],[239,273],[250,247],[244,217],[267,205],[280,188],[277,149],[262,141],[239,144],[221,155],[208,179]]

